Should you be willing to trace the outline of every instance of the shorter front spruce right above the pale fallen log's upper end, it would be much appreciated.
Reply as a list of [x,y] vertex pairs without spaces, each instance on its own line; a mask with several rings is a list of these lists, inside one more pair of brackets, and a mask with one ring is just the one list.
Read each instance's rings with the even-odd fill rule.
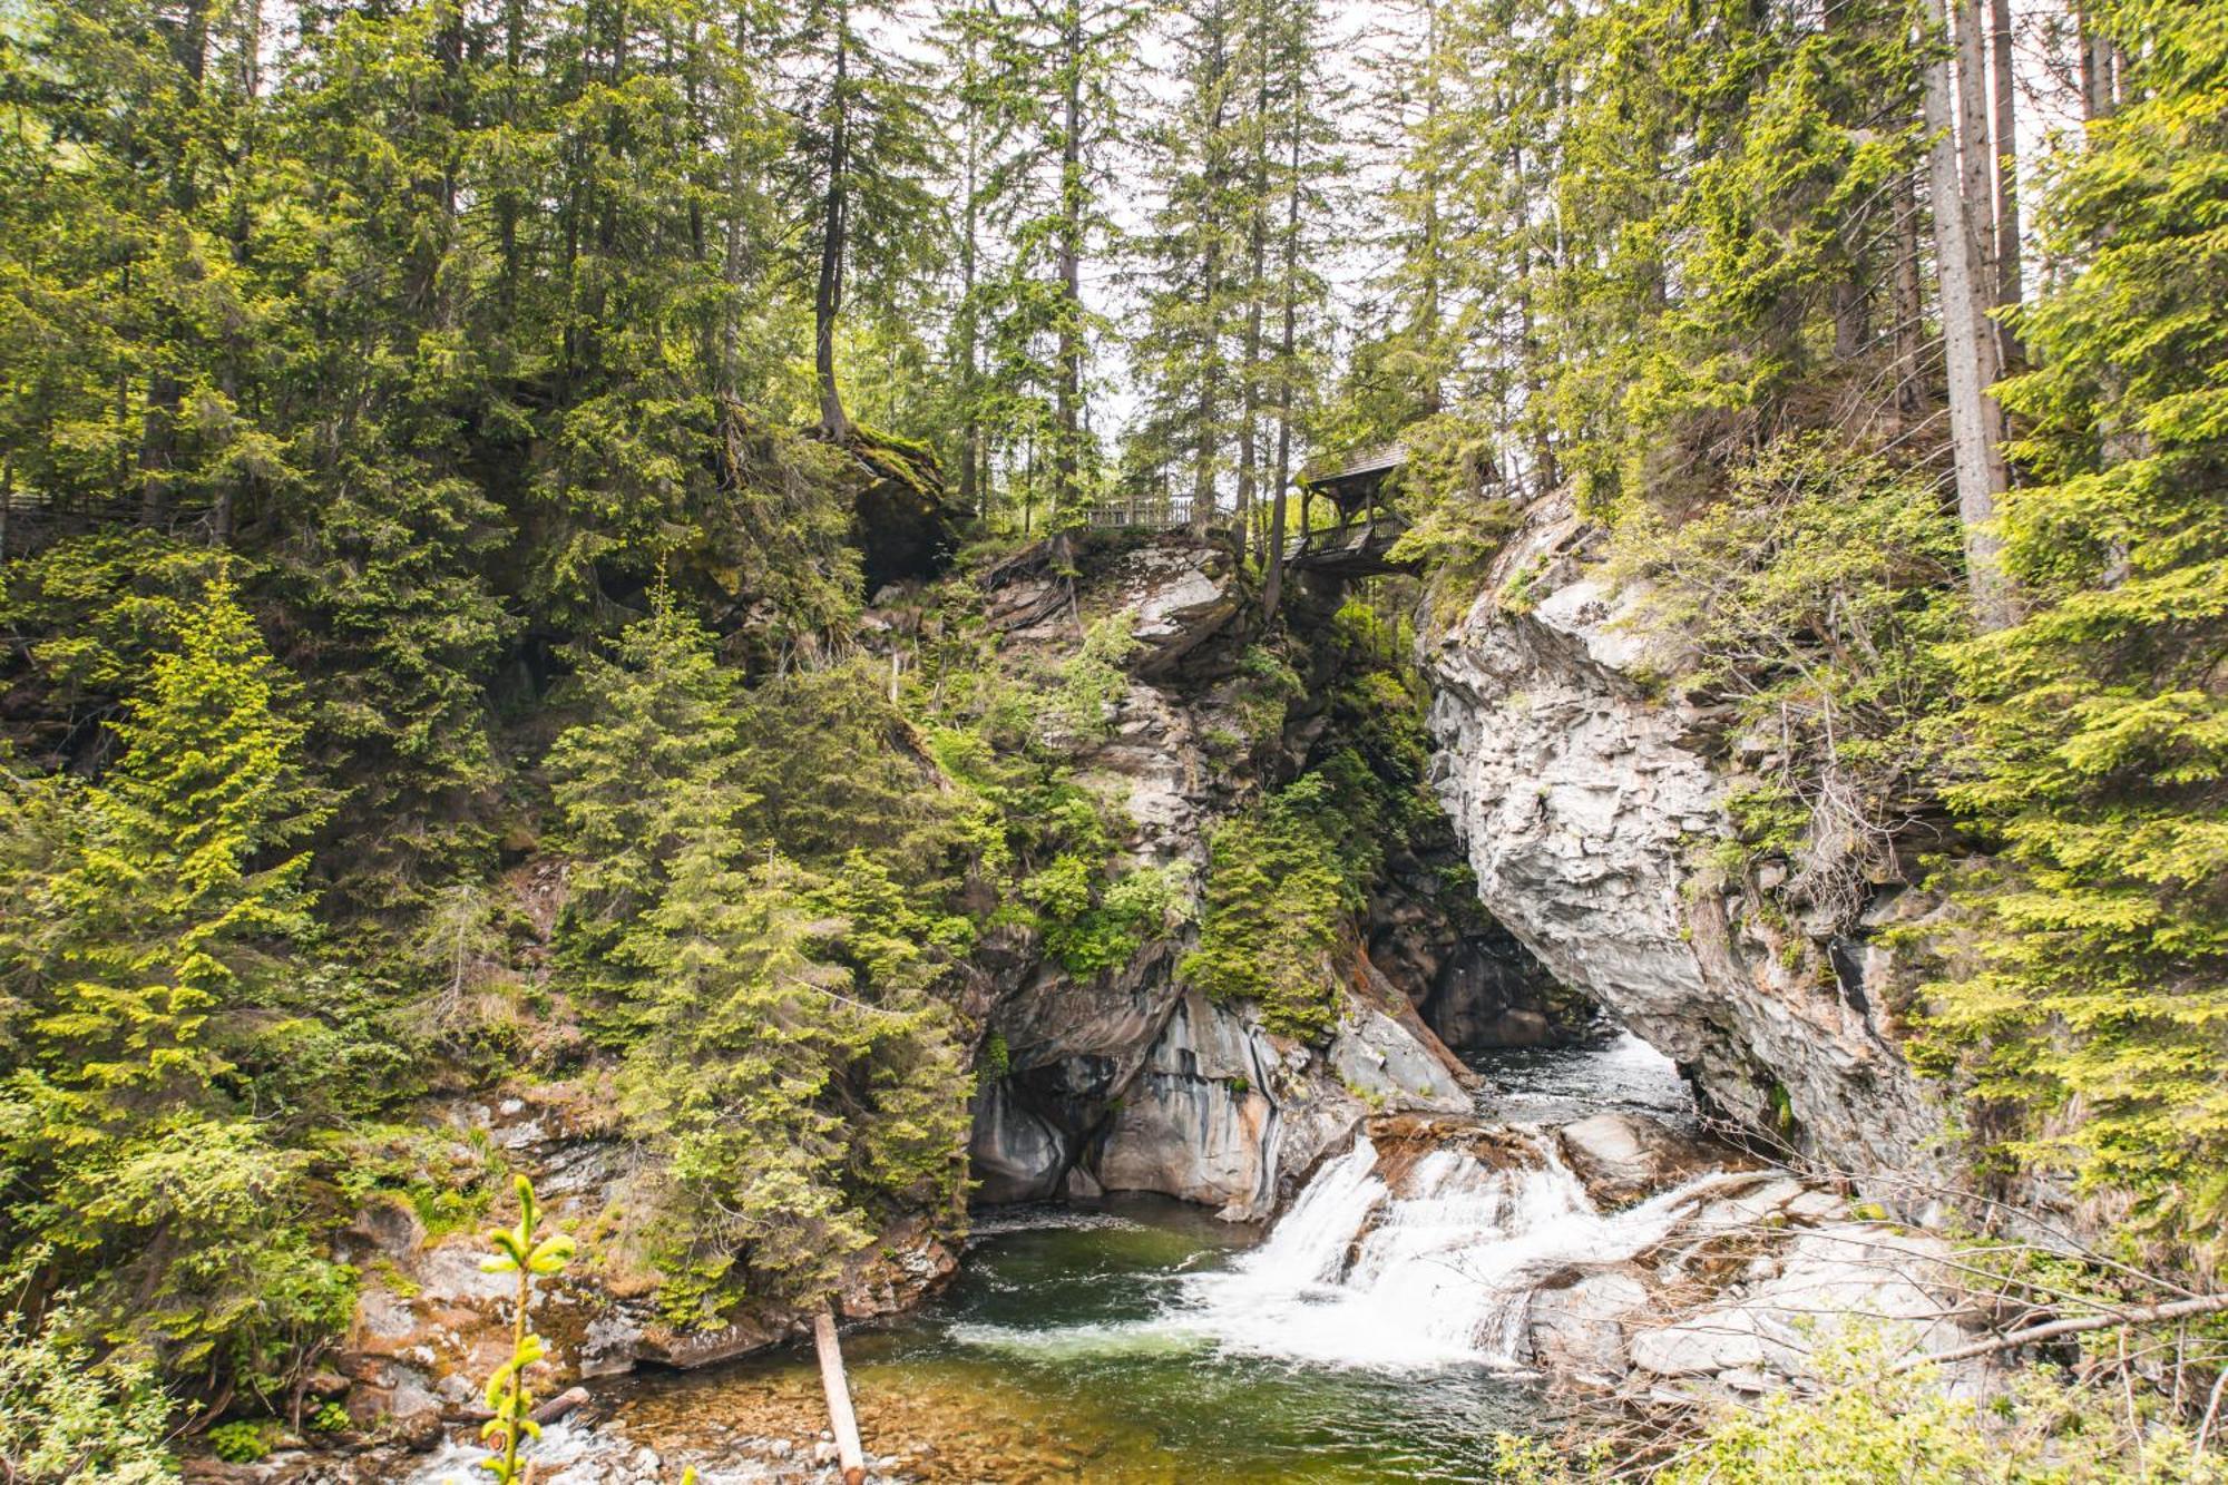
[[918,977],[860,986],[853,925],[815,883],[729,850],[693,838],[646,914],[651,1030],[622,1113],[666,1157],[666,1262],[733,1260],[735,1280],[811,1300],[873,1238],[876,1200],[956,1200],[965,1072]]

